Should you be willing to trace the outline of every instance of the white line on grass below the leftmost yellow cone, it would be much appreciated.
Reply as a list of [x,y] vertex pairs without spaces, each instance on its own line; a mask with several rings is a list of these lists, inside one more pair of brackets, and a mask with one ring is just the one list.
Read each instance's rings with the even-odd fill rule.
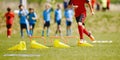
[[3,56],[9,57],[39,57],[39,54],[4,54]]

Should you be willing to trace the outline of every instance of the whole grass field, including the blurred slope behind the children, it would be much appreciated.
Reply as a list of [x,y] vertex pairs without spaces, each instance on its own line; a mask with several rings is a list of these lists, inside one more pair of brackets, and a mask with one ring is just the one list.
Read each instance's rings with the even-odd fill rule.
[[[1,0],[2,1],[2,0]],[[4,2],[4,4],[7,2]],[[7,3],[6,6],[11,5],[13,8],[16,8],[13,3]],[[15,2],[15,4],[17,4]],[[1,5],[0,8],[0,17],[3,16],[5,12],[4,5]],[[31,4],[30,6],[36,9],[36,12],[39,16],[39,20],[35,26],[35,36],[41,35],[41,30],[43,26],[42,12],[43,7],[38,8],[39,5]],[[113,9],[112,9],[113,10]],[[53,13],[52,13],[52,22],[51,22],[51,36],[54,35],[56,24],[53,22]],[[66,33],[65,19],[62,19],[62,33],[63,36]],[[67,39],[67,44],[71,48],[54,48],[53,43],[50,40],[55,40],[53,38],[47,37],[47,43],[44,44],[43,39],[35,38],[37,42],[44,44],[50,48],[48,49],[31,49],[30,48],[30,39],[26,36],[22,39],[19,33],[19,19],[16,15],[13,26],[13,35],[9,39],[6,37],[6,28],[5,20],[0,18],[0,60],[120,60],[120,11],[96,11],[94,16],[91,16],[88,13],[86,19],[86,27],[88,30],[92,31],[96,40],[111,40],[112,43],[106,44],[93,44],[90,42],[87,36],[85,40],[93,44],[94,47],[78,47],[76,38]],[[73,36],[79,36],[77,33],[76,21],[73,21]],[[12,47],[18,44],[20,41],[25,41],[27,44],[26,51],[8,51],[9,47]],[[60,41],[64,42],[60,39]],[[20,57],[20,56],[4,56],[5,54],[38,54],[37,57]]]

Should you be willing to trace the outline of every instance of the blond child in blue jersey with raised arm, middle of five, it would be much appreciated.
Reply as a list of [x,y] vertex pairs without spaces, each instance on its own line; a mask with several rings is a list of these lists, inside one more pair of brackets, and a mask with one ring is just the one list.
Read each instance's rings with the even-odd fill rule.
[[50,4],[45,5],[45,10],[43,11],[44,26],[42,30],[42,36],[44,36],[44,30],[47,28],[47,36],[49,36],[49,27],[50,27],[50,13],[53,11]]

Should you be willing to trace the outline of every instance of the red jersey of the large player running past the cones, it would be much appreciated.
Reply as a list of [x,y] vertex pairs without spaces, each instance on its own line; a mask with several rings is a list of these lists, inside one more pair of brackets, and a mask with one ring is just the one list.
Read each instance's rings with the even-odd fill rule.
[[86,14],[85,3],[88,2],[89,0],[70,0],[69,5],[78,6],[78,8],[75,9],[75,17],[78,17],[81,14]]

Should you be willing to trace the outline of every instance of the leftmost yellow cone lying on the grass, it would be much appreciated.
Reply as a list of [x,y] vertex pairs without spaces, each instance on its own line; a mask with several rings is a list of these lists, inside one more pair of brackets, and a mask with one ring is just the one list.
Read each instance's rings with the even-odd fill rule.
[[25,41],[20,41],[19,44],[9,48],[8,50],[27,50]]

